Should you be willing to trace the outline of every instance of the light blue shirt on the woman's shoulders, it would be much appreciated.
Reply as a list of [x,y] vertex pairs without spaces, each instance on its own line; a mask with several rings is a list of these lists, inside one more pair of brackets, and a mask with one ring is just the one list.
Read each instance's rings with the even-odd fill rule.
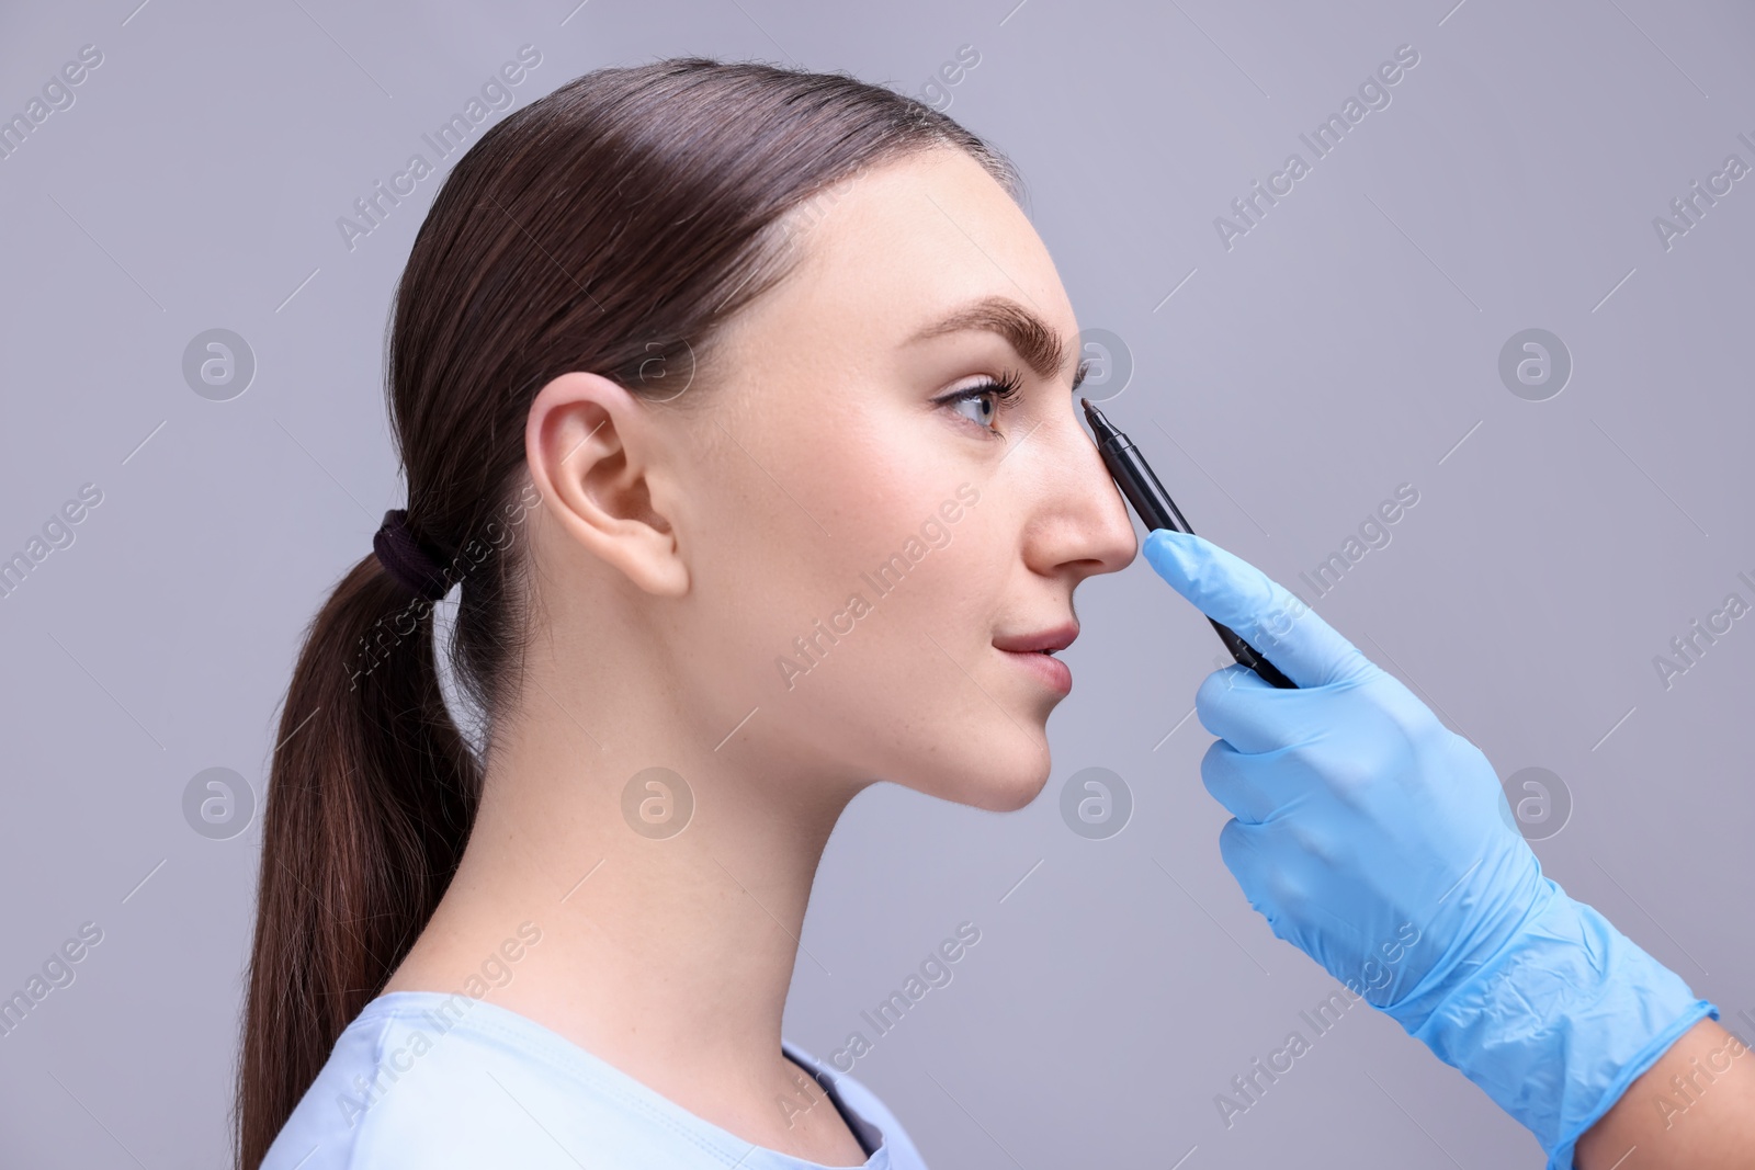
[[[925,1170],[870,1089],[814,1075],[783,1116],[839,1109],[867,1170]],[[818,1088],[821,1086],[821,1088]],[[391,991],[347,1024],[263,1170],[814,1170],[702,1121],[542,1024],[465,995]]]

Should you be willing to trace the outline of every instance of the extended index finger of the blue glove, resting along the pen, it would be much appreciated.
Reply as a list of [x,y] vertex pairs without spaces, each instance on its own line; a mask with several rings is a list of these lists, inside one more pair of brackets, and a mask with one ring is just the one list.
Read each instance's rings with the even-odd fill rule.
[[1341,682],[1371,661],[1255,565],[1185,531],[1155,528],[1146,561],[1207,617],[1236,630],[1300,688]]

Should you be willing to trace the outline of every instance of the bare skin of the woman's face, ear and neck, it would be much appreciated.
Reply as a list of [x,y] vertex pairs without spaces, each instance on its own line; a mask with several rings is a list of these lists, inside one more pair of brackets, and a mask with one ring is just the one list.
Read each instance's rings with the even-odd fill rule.
[[[832,1166],[865,1158],[820,1096],[799,1112],[779,1047],[828,833],[879,779],[1028,803],[1064,695],[993,642],[1072,621],[1074,588],[1137,551],[1074,414],[1078,321],[1011,196],[949,149],[842,186],[704,384],[653,405],[574,372],[537,395],[526,686],[493,730],[462,868],[386,988],[455,991],[530,919],[542,940],[491,1002]],[[1062,361],[1032,370],[992,330],[913,340],[981,298],[1037,316]],[[935,402],[1007,370],[1021,393],[997,414]],[[890,593],[862,579],[932,519],[939,547],[921,540]],[[853,593],[869,612],[788,681],[779,656],[806,665],[793,639]],[[655,765],[695,796],[665,840],[621,814]]]

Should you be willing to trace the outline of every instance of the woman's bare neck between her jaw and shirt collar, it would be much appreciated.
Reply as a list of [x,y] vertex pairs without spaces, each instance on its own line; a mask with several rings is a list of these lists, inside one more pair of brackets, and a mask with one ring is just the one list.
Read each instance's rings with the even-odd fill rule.
[[[463,863],[386,989],[486,982],[488,1002],[746,1133],[751,1110],[774,1114],[769,1089],[792,1074],[779,1037],[804,912],[856,789],[746,763],[758,738],[714,747],[723,728],[653,719],[660,696],[581,693],[565,672],[526,677],[541,679],[528,688],[535,717],[495,737]],[[590,712],[590,731],[556,705]],[[691,812],[644,782],[625,796],[655,763],[684,777]],[[656,833],[683,816],[683,831]],[[502,944],[525,923],[541,940],[493,961],[519,951]]]

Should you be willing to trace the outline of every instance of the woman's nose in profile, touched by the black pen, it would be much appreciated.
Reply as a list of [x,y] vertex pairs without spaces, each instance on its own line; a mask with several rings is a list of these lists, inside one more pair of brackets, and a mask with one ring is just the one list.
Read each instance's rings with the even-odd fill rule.
[[1078,584],[1134,563],[1139,554],[1134,521],[1071,395],[1064,410],[1037,426],[1028,446],[1035,451],[1016,454],[1028,458],[1028,482],[1035,488],[1023,549],[1030,568],[1071,575]]

